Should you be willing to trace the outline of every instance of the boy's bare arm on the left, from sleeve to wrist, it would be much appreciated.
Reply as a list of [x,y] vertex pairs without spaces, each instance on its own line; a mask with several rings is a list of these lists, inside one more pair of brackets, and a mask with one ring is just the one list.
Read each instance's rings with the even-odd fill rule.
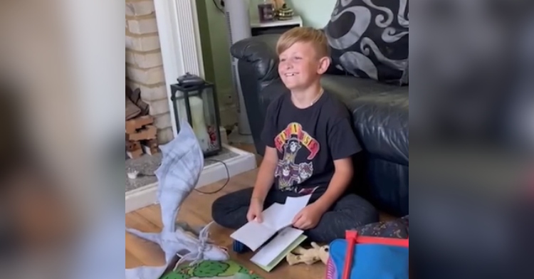
[[261,165],[258,170],[256,184],[254,184],[254,189],[252,191],[251,200],[256,199],[261,201],[261,204],[263,204],[268,191],[273,185],[276,164],[278,164],[278,153],[276,149],[266,146],[265,154],[263,155],[263,160],[261,161]]

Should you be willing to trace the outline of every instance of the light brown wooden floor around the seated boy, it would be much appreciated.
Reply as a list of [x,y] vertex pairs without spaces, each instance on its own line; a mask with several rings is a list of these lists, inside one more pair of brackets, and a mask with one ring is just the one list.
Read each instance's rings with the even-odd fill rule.
[[[201,226],[211,221],[211,204],[224,194],[246,187],[253,186],[256,179],[257,169],[232,177],[228,184],[216,194],[200,194],[194,191],[184,202],[179,211],[178,219],[187,221],[191,226]],[[225,179],[226,180],[226,179]],[[214,191],[224,185],[224,181],[219,181],[201,188],[201,191]],[[162,228],[159,206],[153,205],[126,214],[126,226],[137,228],[141,231],[157,232]],[[231,251],[231,231],[220,226],[211,227],[211,238],[221,246],[226,246]],[[256,274],[265,279],[286,279],[286,278],[325,278],[325,265],[315,263],[314,265],[293,265],[289,266],[285,261],[278,265],[271,273],[258,268],[248,259],[251,253],[238,255],[231,253],[231,259],[253,270]],[[164,256],[155,244],[142,241],[140,238],[126,233],[126,268],[133,268],[139,265],[163,265]]]

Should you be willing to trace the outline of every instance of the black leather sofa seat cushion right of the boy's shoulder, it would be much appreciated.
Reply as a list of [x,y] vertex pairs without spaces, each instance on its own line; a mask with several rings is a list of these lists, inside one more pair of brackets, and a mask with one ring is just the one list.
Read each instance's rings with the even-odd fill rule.
[[323,88],[352,111],[355,132],[375,157],[408,165],[408,87],[350,75],[325,75]]

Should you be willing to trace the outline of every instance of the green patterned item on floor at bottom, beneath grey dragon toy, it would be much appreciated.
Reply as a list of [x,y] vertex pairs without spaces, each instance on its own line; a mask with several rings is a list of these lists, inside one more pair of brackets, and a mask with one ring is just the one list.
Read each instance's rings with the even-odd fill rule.
[[232,260],[204,260],[198,265],[179,266],[160,279],[262,279]]

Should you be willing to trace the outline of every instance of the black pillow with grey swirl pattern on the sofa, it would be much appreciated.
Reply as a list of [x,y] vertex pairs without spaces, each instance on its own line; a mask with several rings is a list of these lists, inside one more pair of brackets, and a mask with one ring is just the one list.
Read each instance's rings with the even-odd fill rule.
[[335,68],[408,83],[408,0],[337,0],[324,30]]

